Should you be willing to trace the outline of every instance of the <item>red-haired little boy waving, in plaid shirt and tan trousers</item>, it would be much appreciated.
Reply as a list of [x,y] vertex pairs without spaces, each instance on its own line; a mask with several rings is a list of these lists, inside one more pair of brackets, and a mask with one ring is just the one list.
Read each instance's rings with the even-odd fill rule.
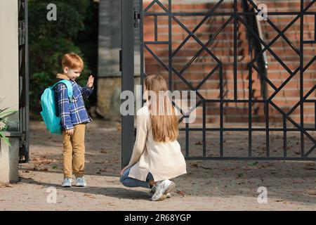
[[73,92],[70,101],[65,84],[61,83],[55,87],[63,139],[62,187],[72,186],[72,172],[76,176],[76,186],[84,187],[84,133],[86,123],[92,121],[84,106],[84,98],[88,98],[93,92],[94,77],[88,78],[86,87],[81,87],[75,82],[84,70],[84,61],[75,53],[68,53],[62,58],[62,69],[63,74],[58,74],[57,78],[69,80]]

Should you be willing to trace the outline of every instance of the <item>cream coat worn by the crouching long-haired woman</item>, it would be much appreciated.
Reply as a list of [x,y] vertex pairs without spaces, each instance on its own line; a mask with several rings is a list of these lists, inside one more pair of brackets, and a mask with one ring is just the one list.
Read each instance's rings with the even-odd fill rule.
[[137,112],[136,141],[127,167],[131,167],[129,177],[140,181],[145,181],[149,172],[154,176],[154,181],[172,179],[187,173],[178,141],[154,141],[147,105]]

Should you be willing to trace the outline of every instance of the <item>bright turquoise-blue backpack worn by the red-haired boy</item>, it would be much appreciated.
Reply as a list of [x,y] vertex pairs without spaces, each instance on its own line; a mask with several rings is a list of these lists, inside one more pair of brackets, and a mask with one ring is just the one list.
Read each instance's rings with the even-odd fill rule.
[[43,118],[46,128],[51,134],[62,134],[62,127],[60,124],[60,117],[57,116],[58,112],[56,103],[55,103],[55,91],[54,88],[57,84],[65,84],[68,90],[68,97],[70,102],[72,101],[72,84],[69,80],[63,79],[60,82],[57,82],[53,86],[45,89],[44,93],[41,95],[41,117]]

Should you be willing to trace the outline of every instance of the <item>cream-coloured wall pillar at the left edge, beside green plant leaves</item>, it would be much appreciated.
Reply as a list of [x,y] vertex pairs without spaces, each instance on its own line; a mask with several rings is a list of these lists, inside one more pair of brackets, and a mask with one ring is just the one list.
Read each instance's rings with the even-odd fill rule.
[[[0,31],[0,98],[4,97],[0,109],[18,110],[18,0],[0,1]],[[9,120],[18,122],[18,113]],[[11,138],[10,141],[11,148],[4,140],[0,143],[0,182],[4,183],[18,180],[19,139]]]

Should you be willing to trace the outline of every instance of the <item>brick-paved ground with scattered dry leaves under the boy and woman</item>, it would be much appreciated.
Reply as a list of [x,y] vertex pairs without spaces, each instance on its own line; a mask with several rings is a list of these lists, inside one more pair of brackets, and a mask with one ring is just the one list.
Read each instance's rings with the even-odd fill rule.
[[[121,136],[119,124],[96,122],[86,135],[87,188],[61,188],[60,136],[32,122],[30,157],[20,166],[18,184],[0,184],[0,210],[316,210],[314,162],[187,161],[187,174],[175,179],[172,198],[152,202],[144,188],[119,184]],[[232,155],[244,154],[246,141],[235,134],[225,141]],[[264,143],[254,137],[255,153]],[[298,154],[296,136],[289,139],[289,154]],[[190,136],[192,155],[202,150],[199,134]],[[265,136],[263,136],[265,139]],[[277,134],[272,154],[282,153]],[[183,146],[184,138],[180,139]],[[207,140],[207,155],[216,155],[216,134]],[[213,145],[213,147],[212,147]],[[280,150],[280,151],[279,151]],[[229,153],[229,151],[228,151]],[[57,203],[46,201],[47,188],[57,190]],[[268,188],[268,203],[259,204],[258,187]]]

